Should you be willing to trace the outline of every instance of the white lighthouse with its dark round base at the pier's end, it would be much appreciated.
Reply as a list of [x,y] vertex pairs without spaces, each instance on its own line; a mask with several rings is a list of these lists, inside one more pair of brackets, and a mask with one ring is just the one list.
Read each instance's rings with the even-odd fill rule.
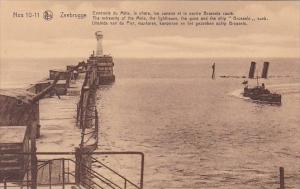
[[88,66],[97,66],[98,85],[111,84],[115,81],[113,57],[103,54],[102,32],[96,31],[95,36],[97,39],[96,53],[89,57],[87,63]]

